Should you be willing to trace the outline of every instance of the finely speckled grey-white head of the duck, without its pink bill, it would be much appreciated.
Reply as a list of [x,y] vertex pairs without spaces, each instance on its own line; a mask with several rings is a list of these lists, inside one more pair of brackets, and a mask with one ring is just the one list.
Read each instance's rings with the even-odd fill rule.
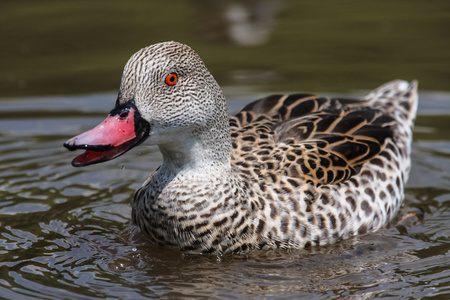
[[[166,83],[169,74],[177,76],[173,85]],[[147,141],[159,145],[163,155],[185,142],[190,148],[200,142],[200,148],[216,148],[210,149],[215,155],[222,149],[229,157],[225,97],[190,47],[165,42],[135,53],[125,66],[118,102],[133,99],[150,124]]]

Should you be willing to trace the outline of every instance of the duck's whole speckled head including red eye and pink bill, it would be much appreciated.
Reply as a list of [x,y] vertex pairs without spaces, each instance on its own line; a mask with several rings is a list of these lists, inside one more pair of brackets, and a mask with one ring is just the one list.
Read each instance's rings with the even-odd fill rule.
[[[84,149],[76,167],[116,158],[144,140],[174,143],[226,126],[226,103],[220,87],[200,57],[188,46],[166,42],[135,53],[125,66],[116,105],[95,128],[64,143]],[[216,124],[217,125],[217,124]]]

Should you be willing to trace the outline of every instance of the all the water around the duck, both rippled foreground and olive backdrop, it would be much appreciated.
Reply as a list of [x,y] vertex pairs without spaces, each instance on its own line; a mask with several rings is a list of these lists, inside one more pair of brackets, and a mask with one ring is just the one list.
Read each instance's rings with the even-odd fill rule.
[[[247,1],[247,19],[242,1],[213,3],[2,3],[0,298],[449,298],[450,2]],[[132,195],[157,148],[73,168],[62,144],[104,119],[131,54],[166,40],[194,47],[230,111],[273,92],[361,95],[418,79],[400,215],[422,210],[423,221],[220,257],[129,241]]]

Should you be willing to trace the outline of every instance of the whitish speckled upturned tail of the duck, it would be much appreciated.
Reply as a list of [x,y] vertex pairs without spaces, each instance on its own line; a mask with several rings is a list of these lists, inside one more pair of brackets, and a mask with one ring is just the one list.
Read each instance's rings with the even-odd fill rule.
[[365,99],[370,101],[372,107],[386,111],[397,120],[406,119],[412,127],[417,112],[417,85],[415,80],[411,83],[394,80],[373,90]]

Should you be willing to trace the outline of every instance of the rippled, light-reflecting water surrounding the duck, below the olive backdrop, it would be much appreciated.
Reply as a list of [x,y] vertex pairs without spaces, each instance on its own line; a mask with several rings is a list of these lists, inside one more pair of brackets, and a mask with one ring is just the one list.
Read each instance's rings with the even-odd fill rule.
[[[422,209],[423,223],[406,233],[391,227],[321,248],[222,257],[128,241],[131,195],[158,166],[156,148],[140,147],[94,167],[70,166],[73,153],[63,141],[102,120],[114,95],[4,99],[0,295],[368,299],[450,293],[449,98],[421,95],[419,112],[427,113],[417,120],[404,211]],[[235,110],[245,101],[229,102]]]

